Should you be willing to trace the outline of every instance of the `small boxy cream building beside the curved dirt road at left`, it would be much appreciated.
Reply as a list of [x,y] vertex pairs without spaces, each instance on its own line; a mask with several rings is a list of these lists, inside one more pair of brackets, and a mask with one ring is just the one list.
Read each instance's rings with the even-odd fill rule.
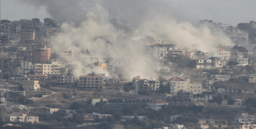
[[23,91],[38,91],[40,85],[37,80],[25,80],[22,82]]

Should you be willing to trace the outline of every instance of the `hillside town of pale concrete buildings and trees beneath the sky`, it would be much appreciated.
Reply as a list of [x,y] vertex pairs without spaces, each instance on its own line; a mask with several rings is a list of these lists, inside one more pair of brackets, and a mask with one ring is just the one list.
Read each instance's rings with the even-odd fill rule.
[[40,20],[1,20],[1,128],[256,129],[255,21],[200,20],[232,45],[192,49],[115,23],[84,47]]

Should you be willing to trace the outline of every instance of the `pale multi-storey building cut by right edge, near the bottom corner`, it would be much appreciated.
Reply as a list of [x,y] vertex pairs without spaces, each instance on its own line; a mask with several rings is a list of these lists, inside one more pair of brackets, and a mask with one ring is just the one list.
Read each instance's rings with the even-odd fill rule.
[[237,123],[248,123],[248,122],[255,123],[256,116],[249,115],[247,112],[242,111],[242,112],[239,112],[237,115],[235,115],[234,121]]

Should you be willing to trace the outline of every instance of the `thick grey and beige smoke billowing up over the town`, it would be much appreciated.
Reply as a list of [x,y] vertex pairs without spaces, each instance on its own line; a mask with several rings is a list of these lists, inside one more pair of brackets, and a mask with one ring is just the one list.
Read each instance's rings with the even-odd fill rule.
[[[171,10],[162,1],[51,1],[51,0],[23,0],[34,6],[46,6],[48,13],[57,22],[62,22],[60,28],[62,34],[54,38],[52,51],[60,53],[63,49],[73,50],[73,58],[65,58],[68,63],[76,64],[74,76],[84,75],[92,70],[85,68],[84,64],[94,63],[96,57],[99,61],[103,58],[111,58],[108,65],[115,64],[115,60],[129,61],[126,67],[127,78],[141,75],[142,78],[156,78],[155,72],[161,67],[158,61],[153,60],[145,42],[106,42],[108,32],[111,32],[109,8],[111,18],[118,29],[127,28],[125,33],[134,29],[141,31],[140,36],[149,36],[150,30],[156,30],[154,38],[166,35],[168,39],[178,42],[179,49],[200,49],[214,53],[220,44],[232,45],[228,37],[221,31],[210,31],[206,26],[195,27],[183,17],[181,12]],[[113,22],[113,19],[112,19]],[[118,25],[118,26],[117,26]],[[121,26],[121,27],[120,27]],[[111,35],[118,35],[112,33]],[[103,38],[97,38],[102,36]],[[85,52],[89,51],[89,55]],[[106,73],[106,70],[95,70]],[[108,73],[107,73],[108,75]]]

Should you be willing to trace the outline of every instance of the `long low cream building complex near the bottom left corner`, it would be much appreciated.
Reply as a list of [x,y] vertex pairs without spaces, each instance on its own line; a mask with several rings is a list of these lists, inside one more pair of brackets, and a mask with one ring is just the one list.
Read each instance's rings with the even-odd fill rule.
[[39,122],[38,116],[27,116],[27,114],[23,114],[21,112],[13,112],[4,117],[4,121],[6,122],[24,122],[24,123],[32,123],[36,124]]

